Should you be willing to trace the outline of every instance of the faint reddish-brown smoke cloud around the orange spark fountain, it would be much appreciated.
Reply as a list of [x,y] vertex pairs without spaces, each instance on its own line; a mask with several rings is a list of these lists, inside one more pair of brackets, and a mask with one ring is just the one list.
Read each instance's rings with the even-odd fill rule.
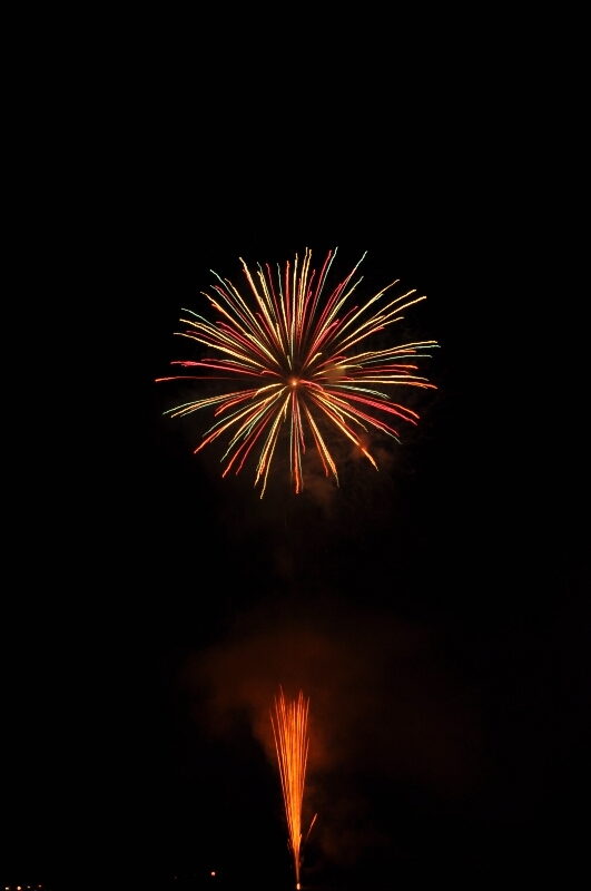
[[466,691],[446,676],[427,628],[388,614],[329,600],[301,615],[286,603],[244,614],[223,642],[188,659],[183,683],[203,697],[200,719],[214,735],[246,712],[273,765],[278,685],[311,697],[307,806],[322,813],[318,838],[333,860],[380,843],[357,775],[455,799],[477,774]]

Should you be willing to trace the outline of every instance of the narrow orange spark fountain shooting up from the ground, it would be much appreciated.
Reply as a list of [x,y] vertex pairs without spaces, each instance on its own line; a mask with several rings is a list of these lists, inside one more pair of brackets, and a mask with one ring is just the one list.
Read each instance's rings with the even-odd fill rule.
[[[273,713],[270,715],[275,748],[277,751],[277,762],[282,776],[289,843],[294,855],[296,888],[299,888],[302,803],[304,801],[304,783],[306,779],[309,743],[307,735],[308,708],[309,699],[304,698],[302,691],[299,691],[297,701],[286,703],[283,689],[280,689],[279,698],[275,698],[275,719],[273,718]],[[315,820],[316,816],[314,816],[311,823],[307,835],[309,835],[309,830]]]

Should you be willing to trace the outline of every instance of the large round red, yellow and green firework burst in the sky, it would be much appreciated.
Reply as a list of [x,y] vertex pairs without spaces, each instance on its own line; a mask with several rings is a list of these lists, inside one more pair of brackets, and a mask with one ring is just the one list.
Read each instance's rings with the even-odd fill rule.
[[[374,304],[400,280],[392,282],[363,305],[347,309],[346,304],[362,281],[351,284],[361,262],[327,298],[323,292],[336,249],[324,262],[318,276],[311,271],[312,252],[306,249],[302,263],[296,254],[293,268],[287,262],[282,271],[272,272],[258,264],[257,278],[242,260],[243,270],[254,298],[253,309],[228,280],[216,273],[213,285],[216,295],[208,297],[220,319],[214,324],[185,310],[189,325],[180,336],[197,341],[214,352],[201,361],[177,361],[184,368],[199,368],[206,373],[158,378],[169,380],[223,380],[220,395],[185,402],[165,414],[183,417],[199,409],[214,409],[216,420],[195,450],[200,451],[224,433],[229,434],[223,477],[230,470],[238,473],[253,449],[258,449],[255,486],[262,483],[265,493],[275,448],[284,422],[289,427],[289,467],[295,491],[304,486],[303,454],[306,432],[312,434],[326,476],[334,474],[338,484],[335,461],[326,444],[327,430],[333,427],[357,446],[377,470],[370,453],[366,437],[370,430],[398,440],[391,425],[393,418],[416,424],[418,415],[394,402],[375,384],[401,384],[434,388],[417,376],[413,360],[429,358],[435,341],[417,341],[382,350],[365,349],[368,339],[387,325],[400,322],[403,311],[425,300],[408,291],[386,302]],[[408,361],[410,360],[410,361]],[[221,373],[221,374],[220,374]]]

